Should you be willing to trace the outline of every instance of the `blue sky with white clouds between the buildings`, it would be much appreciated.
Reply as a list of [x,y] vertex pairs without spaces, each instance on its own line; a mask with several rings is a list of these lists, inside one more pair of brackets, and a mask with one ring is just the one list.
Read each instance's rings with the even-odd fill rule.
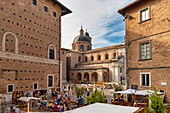
[[135,0],[59,0],[72,13],[62,17],[62,48],[72,48],[81,25],[92,38],[92,48],[121,44],[123,16],[117,11]]

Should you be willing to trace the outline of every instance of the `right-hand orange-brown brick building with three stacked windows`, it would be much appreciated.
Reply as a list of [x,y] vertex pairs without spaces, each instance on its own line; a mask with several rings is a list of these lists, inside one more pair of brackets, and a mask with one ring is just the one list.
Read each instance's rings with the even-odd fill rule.
[[125,17],[129,88],[155,86],[170,102],[170,1],[136,0],[118,12]]

